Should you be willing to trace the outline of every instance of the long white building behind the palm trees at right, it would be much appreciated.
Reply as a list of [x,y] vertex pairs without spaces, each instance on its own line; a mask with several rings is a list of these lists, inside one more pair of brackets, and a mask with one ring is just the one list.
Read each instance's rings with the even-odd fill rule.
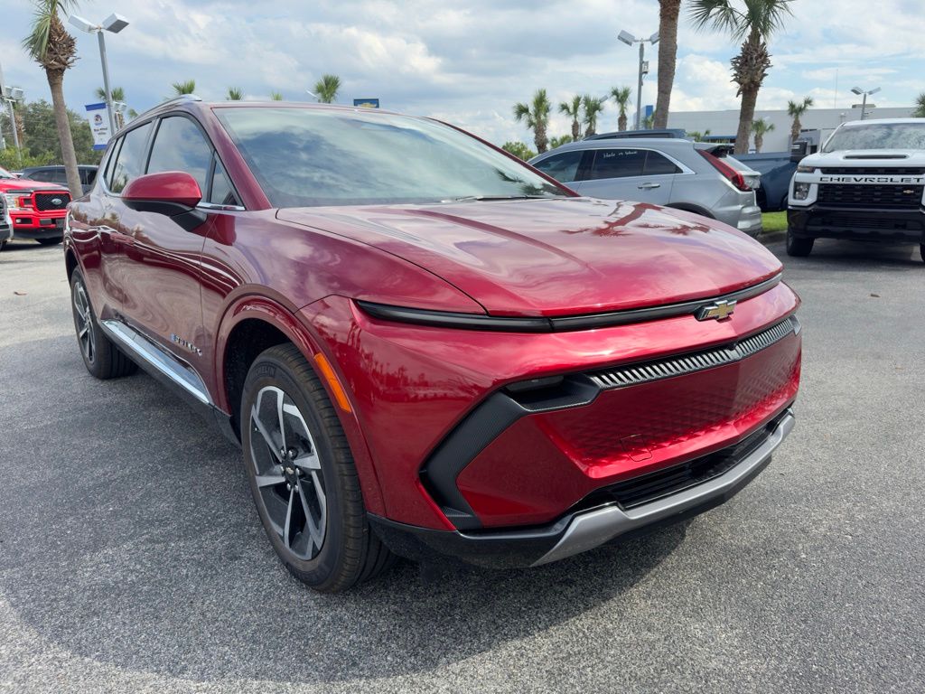
[[[913,106],[904,108],[867,107],[867,118],[909,118]],[[764,136],[762,152],[786,152],[790,149],[790,127],[793,118],[786,110],[755,111],[755,119],[764,118],[774,125],[774,130]],[[824,141],[840,124],[849,120],[860,120],[861,109],[857,108],[810,108],[800,117],[803,130],[816,130]],[[735,140],[735,131],[739,127],[738,109],[728,111],[672,111],[668,117],[669,128],[680,128],[688,132],[704,133],[709,130],[712,138],[728,137]]]

